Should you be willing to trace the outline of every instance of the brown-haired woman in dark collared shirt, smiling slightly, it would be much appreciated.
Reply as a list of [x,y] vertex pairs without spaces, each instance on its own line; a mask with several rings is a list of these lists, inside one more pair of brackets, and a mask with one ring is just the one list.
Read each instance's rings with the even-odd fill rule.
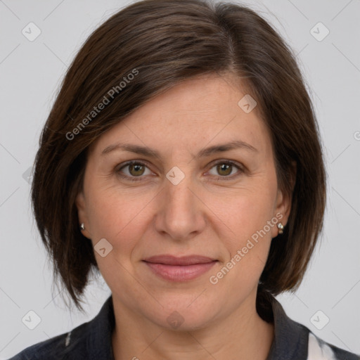
[[32,202],[96,318],[13,359],[360,359],[292,321],[326,173],[297,63],[250,9],[146,0],[91,34],[41,134]]

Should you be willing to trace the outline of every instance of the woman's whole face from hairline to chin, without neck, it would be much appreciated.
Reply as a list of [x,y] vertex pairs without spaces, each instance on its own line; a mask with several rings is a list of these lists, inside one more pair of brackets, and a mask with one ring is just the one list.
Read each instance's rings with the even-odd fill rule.
[[[146,321],[195,329],[255,307],[290,200],[278,191],[257,108],[249,113],[246,98],[238,105],[245,94],[215,75],[188,79],[89,152],[77,197],[82,232],[114,302]],[[234,142],[240,146],[226,150]],[[209,150],[217,146],[224,148]],[[175,258],[145,261],[159,255]],[[191,255],[208,259],[177,259]]]

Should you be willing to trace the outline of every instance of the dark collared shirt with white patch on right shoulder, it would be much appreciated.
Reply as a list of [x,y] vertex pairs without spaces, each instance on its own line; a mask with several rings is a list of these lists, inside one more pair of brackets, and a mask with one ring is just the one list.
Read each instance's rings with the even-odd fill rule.
[[[274,321],[275,335],[266,360],[360,360],[359,355],[324,342],[307,327],[290,319],[275,297],[271,297],[267,307]],[[32,345],[9,360],[114,360],[111,343],[114,326],[113,297],[110,296],[93,320],[70,333]]]

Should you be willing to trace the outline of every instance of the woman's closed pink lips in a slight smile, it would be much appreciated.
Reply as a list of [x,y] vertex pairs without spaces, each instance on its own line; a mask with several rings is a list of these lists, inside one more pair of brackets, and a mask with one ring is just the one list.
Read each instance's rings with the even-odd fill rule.
[[157,255],[143,260],[158,276],[169,281],[188,281],[205,274],[216,259],[201,255],[174,257],[172,255]]

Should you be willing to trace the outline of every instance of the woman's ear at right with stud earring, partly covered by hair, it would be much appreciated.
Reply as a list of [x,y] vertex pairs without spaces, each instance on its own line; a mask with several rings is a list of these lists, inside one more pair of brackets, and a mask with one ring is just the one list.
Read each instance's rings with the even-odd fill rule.
[[[278,189],[278,195],[276,196],[276,209],[274,212],[274,217],[276,217],[278,219],[278,222],[281,222],[283,226],[285,226],[288,223],[288,219],[290,216],[291,203],[293,200],[293,191],[296,182],[296,172],[297,172],[296,162],[293,161],[290,179],[288,180],[290,181],[290,193],[284,193],[283,191],[281,191],[281,189]],[[273,227],[272,237],[274,238],[275,236],[278,236],[277,226]]]

